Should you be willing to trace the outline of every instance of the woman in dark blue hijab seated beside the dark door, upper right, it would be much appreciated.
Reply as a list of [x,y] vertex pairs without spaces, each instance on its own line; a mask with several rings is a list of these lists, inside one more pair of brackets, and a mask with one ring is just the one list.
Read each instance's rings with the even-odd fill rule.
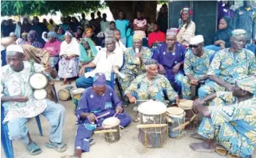
[[230,48],[230,37],[233,29],[230,26],[230,17],[222,17],[219,20],[219,30],[215,33],[214,44],[207,45],[206,49],[218,52],[223,48]]

